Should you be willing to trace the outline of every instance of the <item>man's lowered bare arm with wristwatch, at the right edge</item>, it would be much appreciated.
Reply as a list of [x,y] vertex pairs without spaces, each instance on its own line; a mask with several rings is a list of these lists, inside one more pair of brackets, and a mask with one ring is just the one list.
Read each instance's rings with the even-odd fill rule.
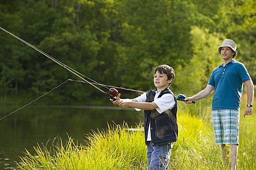
[[[247,104],[253,104],[254,101],[254,84],[252,80],[247,80],[244,82],[247,86]],[[251,115],[253,113],[253,107],[246,107],[243,116]]]

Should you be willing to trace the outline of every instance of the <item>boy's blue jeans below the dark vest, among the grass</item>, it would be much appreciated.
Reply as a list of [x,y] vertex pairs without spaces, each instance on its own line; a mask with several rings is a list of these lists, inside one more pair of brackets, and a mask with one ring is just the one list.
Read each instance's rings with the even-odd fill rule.
[[166,170],[174,143],[153,146],[151,141],[147,142],[147,157],[149,170]]

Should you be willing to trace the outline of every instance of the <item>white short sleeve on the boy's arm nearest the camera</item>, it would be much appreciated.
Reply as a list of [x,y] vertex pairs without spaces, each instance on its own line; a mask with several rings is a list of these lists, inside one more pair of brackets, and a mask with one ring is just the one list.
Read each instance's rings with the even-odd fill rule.
[[163,113],[175,106],[175,100],[172,94],[164,94],[160,98],[155,98],[154,103],[158,105],[158,108],[156,109],[158,113]]

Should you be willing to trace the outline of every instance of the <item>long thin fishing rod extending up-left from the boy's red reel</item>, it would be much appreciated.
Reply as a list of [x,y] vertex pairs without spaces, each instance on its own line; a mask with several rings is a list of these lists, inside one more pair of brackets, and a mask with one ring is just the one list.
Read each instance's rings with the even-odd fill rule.
[[[106,86],[104,86],[104,85],[102,85],[102,84],[99,84],[98,82],[96,82],[96,81],[90,79],[89,77],[86,77],[85,75],[79,73],[77,70],[75,70],[75,69],[73,69],[73,68],[70,68],[70,67],[68,67],[67,65],[61,63],[59,60],[55,59],[54,57],[52,57],[51,55],[45,53],[44,51],[41,51],[40,49],[38,49],[38,48],[35,47],[34,45],[31,45],[30,43],[28,43],[27,41],[23,40],[23,39],[20,38],[19,36],[15,35],[15,34],[12,34],[11,32],[9,32],[9,31],[3,29],[2,27],[0,27],[0,29],[1,29],[2,31],[4,31],[5,33],[10,34],[10,35],[12,35],[13,37],[17,38],[18,40],[20,40],[20,41],[23,42],[24,44],[28,45],[29,47],[33,48],[34,50],[38,51],[39,53],[43,54],[44,56],[46,56],[47,58],[51,59],[51,60],[54,61],[55,63],[59,64],[59,65],[62,66],[63,68],[67,69],[67,70],[70,71],[71,73],[75,74],[76,76],[78,76],[79,78],[81,78],[84,82],[86,82],[86,83],[89,84],[89,85],[92,85],[94,88],[96,88],[98,91],[100,91],[100,92],[103,93],[104,95],[108,96],[110,99],[116,100],[116,99],[114,98],[115,96],[113,96],[113,95],[110,93],[110,91],[109,91],[109,93],[107,93],[107,92],[101,90],[100,88],[98,88],[98,87],[97,87],[96,85],[94,85],[94,84],[101,85],[101,86],[103,86],[103,87],[105,87],[105,88],[108,88],[108,87],[106,87]],[[86,79],[88,79],[88,80],[94,82],[94,84],[91,83],[91,82],[89,82],[89,81],[87,81],[87,80],[84,79],[83,77],[85,77]],[[108,89],[109,89],[109,88],[108,88]]]

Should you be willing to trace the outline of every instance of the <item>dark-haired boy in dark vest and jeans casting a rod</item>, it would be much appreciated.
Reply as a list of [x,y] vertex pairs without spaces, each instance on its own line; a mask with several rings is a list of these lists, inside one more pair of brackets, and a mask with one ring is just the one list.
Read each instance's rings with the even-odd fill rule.
[[170,160],[174,142],[177,141],[177,101],[168,88],[175,78],[174,69],[168,65],[155,68],[156,90],[143,93],[135,99],[120,99],[114,104],[121,108],[144,110],[145,143],[149,170],[165,170]]

